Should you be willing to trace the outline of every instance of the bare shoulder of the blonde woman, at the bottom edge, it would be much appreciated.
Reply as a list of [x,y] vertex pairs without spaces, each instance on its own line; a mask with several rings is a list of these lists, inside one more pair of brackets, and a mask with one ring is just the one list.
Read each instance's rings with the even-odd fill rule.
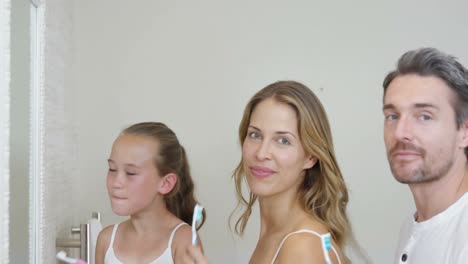
[[[328,252],[332,263],[338,263],[335,253]],[[290,235],[279,252],[277,263],[325,263],[321,237],[301,232]]]

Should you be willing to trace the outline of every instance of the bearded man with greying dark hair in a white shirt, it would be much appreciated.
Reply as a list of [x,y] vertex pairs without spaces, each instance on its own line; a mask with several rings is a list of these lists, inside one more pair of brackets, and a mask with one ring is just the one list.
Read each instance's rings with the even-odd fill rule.
[[383,82],[384,139],[416,212],[395,263],[468,263],[468,70],[433,48],[406,52]]

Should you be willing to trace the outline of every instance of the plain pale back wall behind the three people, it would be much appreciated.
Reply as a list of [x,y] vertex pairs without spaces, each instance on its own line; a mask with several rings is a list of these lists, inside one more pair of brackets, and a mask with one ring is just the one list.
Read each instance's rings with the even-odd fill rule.
[[[308,85],[329,114],[358,241],[391,263],[411,208],[393,180],[382,139],[381,83],[406,50],[434,46],[468,65],[466,1],[74,1],[76,173],[85,221],[109,206],[106,159],[125,126],[162,121],[185,145],[208,211],[201,234],[212,263],[246,263],[258,214],[243,240],[227,228],[237,127],[257,90],[281,79]],[[57,48],[60,48],[58,46]],[[64,177],[70,177],[69,174]]]

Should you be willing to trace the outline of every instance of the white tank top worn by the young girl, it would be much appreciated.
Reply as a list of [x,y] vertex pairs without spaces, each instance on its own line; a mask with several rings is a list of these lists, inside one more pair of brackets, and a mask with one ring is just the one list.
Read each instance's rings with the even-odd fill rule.
[[[179,229],[179,227],[183,225],[186,225],[186,223],[180,223],[172,230],[171,236],[169,237],[169,242],[167,243],[166,250],[164,250],[164,252],[159,257],[157,257],[155,260],[151,261],[148,264],[174,264],[174,260],[172,259],[172,250],[171,250],[172,239],[174,238],[174,235],[177,229]],[[119,227],[119,224],[115,224],[114,228],[112,229],[111,242],[109,244],[109,248],[107,248],[106,255],[104,257],[104,264],[122,264],[122,262],[115,256],[114,246],[113,246],[115,233],[117,233],[118,227]]]

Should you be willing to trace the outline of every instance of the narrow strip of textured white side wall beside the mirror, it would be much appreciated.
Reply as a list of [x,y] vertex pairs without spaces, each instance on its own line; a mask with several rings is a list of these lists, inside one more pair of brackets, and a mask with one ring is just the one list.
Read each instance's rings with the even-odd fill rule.
[[55,239],[71,237],[72,226],[80,223],[73,214],[81,197],[75,197],[74,178],[79,176],[76,164],[76,129],[73,118],[75,89],[73,2],[42,1],[44,16],[38,21],[43,47],[41,93],[43,120],[41,141],[42,177],[39,181],[39,244],[36,263],[55,263]]

